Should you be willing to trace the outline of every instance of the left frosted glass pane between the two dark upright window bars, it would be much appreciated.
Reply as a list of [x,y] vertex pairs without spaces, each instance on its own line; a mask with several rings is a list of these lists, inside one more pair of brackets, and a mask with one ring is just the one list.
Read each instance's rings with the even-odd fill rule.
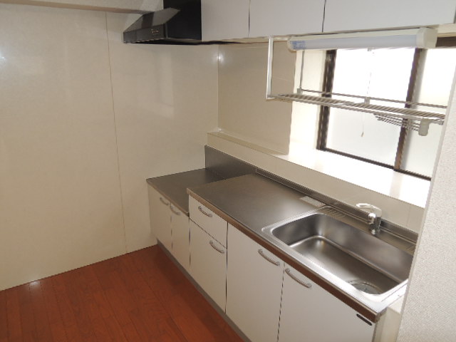
[[[405,100],[414,53],[412,48],[338,50],[333,93]],[[326,148],[394,165],[399,134],[399,126],[378,121],[371,113],[331,108]]]

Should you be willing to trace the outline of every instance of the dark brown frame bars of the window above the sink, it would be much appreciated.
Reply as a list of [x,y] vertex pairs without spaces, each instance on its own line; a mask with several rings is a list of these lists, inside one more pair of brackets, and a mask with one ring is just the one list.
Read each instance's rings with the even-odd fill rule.
[[[445,37],[445,38],[438,38],[437,39],[437,47],[455,47],[456,46],[456,37]],[[333,91],[333,81],[334,81],[334,71],[336,69],[336,58],[337,58],[337,51],[336,50],[329,50],[326,51],[326,61],[325,67],[323,71],[323,87],[322,90],[327,93],[331,93]],[[413,56],[412,67],[410,71],[410,80],[408,83],[408,91],[405,98],[405,101],[412,102],[413,101],[413,93],[415,92],[416,81],[418,77],[418,68],[420,66],[420,62],[423,61],[425,58],[425,53],[420,48],[415,48],[415,53]],[[330,97],[331,95],[326,95]],[[410,105],[405,105],[405,108],[410,108]],[[360,157],[358,155],[352,155],[350,153],[341,152],[338,150],[333,150],[326,146],[326,141],[328,138],[328,123],[329,123],[329,116],[330,116],[330,108],[328,106],[321,106],[320,107],[320,114],[318,118],[318,136],[317,136],[317,143],[316,149],[322,150],[325,152],[336,153],[338,155],[343,155],[345,157],[350,157],[356,160],[361,160],[363,162],[370,162],[371,164],[378,165],[381,167],[386,167],[388,169],[394,170],[396,172],[403,173],[405,175],[412,175],[414,177],[419,177],[424,180],[431,180],[431,177],[420,175],[416,172],[412,172],[409,170],[405,170],[401,168],[402,157],[405,150],[405,141],[407,139],[408,130],[406,128],[401,127],[399,138],[398,138],[398,145],[396,147],[396,154],[395,154],[395,162],[394,165],[388,165],[383,162],[377,162],[375,160],[371,160],[365,157]],[[407,120],[407,119],[403,119]]]

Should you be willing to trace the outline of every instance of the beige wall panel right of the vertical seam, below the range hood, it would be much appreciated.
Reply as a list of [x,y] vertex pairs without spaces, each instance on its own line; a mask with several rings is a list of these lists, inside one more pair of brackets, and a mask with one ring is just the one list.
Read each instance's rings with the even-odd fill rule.
[[108,14],[115,123],[128,251],[155,243],[145,179],[204,167],[217,127],[217,46],[124,44]]

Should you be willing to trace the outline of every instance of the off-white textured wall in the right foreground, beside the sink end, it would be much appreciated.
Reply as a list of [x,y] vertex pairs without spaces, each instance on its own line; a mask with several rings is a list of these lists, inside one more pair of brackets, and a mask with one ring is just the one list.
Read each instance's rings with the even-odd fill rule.
[[398,342],[456,340],[455,93],[448,113],[413,260]]

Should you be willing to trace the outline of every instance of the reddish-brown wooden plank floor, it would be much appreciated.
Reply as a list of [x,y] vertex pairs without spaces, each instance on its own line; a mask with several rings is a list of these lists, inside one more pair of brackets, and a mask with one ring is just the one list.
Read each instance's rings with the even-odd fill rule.
[[0,291],[0,342],[241,341],[155,246]]

